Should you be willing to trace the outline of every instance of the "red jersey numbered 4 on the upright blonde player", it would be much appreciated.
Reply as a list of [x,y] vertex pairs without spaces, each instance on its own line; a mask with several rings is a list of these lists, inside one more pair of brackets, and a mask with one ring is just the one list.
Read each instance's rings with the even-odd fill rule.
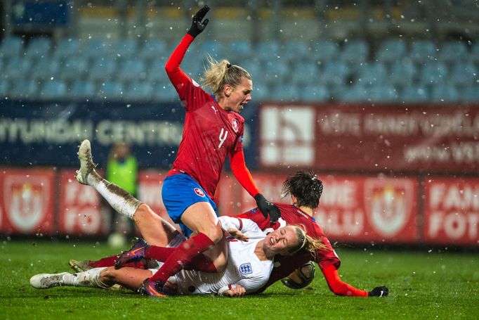
[[169,175],[188,174],[213,199],[226,156],[242,151],[244,118],[223,110],[181,70],[181,60],[193,39],[186,34],[165,66],[186,109],[183,137]]

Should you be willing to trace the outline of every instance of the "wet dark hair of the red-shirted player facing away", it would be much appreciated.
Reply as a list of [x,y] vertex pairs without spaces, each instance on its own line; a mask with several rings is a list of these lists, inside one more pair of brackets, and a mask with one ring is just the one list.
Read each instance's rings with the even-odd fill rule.
[[312,171],[297,171],[283,182],[283,196],[295,196],[298,207],[314,209],[320,205],[322,181]]

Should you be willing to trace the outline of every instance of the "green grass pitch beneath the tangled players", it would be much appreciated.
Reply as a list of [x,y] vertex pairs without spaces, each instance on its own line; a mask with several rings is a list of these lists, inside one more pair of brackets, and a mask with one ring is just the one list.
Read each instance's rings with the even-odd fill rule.
[[281,283],[258,296],[141,297],[130,291],[29,286],[33,274],[70,271],[68,260],[116,253],[105,243],[0,242],[0,319],[479,319],[479,255],[442,250],[340,248],[343,281],[386,298],[336,297],[321,272],[303,290]]

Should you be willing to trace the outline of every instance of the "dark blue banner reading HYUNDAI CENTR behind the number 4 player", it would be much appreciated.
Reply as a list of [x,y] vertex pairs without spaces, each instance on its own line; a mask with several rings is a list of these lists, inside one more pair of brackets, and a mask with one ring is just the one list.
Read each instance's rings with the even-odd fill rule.
[[[249,104],[244,153],[256,168],[257,105]],[[77,167],[79,142],[89,139],[93,160],[106,164],[114,143],[131,146],[138,165],[168,169],[183,133],[181,103],[0,102],[0,165]]]

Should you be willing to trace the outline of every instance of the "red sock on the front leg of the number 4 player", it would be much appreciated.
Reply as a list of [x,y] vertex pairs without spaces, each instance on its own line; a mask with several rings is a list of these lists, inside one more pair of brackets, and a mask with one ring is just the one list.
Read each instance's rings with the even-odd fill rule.
[[204,233],[198,233],[196,236],[189,238],[181,243],[178,248],[175,248],[162,267],[150,278],[150,281],[165,283],[170,276],[180,271],[183,266],[190,264],[199,253],[212,246],[214,246],[214,242]]

